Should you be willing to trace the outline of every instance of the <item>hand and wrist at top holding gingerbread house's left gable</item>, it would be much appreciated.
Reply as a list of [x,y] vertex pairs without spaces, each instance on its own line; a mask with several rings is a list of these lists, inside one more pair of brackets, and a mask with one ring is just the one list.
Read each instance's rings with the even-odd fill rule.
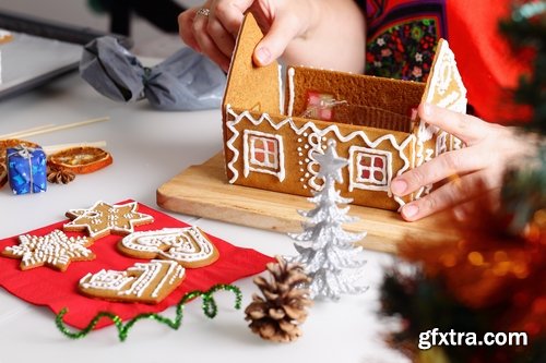
[[288,64],[364,71],[366,24],[354,0],[206,0],[178,16],[180,37],[227,71],[246,11],[265,34],[254,49],[257,65],[282,56]]

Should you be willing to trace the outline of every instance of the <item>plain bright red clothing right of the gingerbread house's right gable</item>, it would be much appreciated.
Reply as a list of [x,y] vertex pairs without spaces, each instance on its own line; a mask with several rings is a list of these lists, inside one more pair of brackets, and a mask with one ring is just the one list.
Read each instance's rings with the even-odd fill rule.
[[448,0],[449,45],[467,88],[468,102],[489,122],[529,118],[510,93],[529,72],[530,60],[510,48],[499,32],[499,21],[510,17],[508,0]]

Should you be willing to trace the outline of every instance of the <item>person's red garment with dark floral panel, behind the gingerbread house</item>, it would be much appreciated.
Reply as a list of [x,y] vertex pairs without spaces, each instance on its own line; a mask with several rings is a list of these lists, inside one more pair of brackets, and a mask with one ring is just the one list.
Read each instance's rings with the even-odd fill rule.
[[[366,14],[366,73],[425,82],[436,45],[448,39],[476,113],[503,122],[517,117],[506,89],[517,86],[524,60],[498,32],[511,0],[357,0]],[[522,57],[523,58],[523,57]],[[512,107],[509,109],[509,107]]]

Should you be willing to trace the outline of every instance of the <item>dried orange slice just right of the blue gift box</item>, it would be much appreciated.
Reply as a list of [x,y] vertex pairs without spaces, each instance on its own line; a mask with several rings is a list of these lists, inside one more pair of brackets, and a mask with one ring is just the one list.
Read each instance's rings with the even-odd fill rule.
[[98,147],[71,147],[50,155],[50,166],[68,169],[76,174],[86,174],[109,166],[112,162],[110,153]]

